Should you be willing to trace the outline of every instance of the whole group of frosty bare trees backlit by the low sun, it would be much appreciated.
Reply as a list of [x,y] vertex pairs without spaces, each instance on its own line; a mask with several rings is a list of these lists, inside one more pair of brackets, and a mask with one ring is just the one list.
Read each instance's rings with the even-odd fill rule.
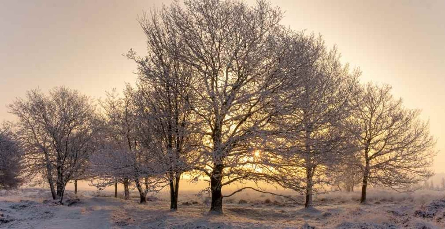
[[435,141],[420,111],[389,86],[361,85],[336,47],[282,17],[263,0],[186,0],[144,14],[147,54],[125,55],[136,86],[107,93],[99,109],[66,87],[29,91],[9,106],[17,121],[6,141],[20,148],[6,151],[61,203],[67,182],[93,178],[124,184],[125,199],[137,189],[141,203],[168,187],[178,209],[188,173],[209,182],[216,213],[224,197],[265,192],[224,195],[246,180],[299,192],[309,208],[326,186],[361,183],[365,203],[369,185],[405,192],[432,176]]

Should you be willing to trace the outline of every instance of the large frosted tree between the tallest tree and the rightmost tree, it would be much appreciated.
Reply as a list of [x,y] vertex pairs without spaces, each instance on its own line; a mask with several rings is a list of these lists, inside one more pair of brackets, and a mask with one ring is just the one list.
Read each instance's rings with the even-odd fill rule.
[[291,112],[277,122],[283,131],[268,146],[270,158],[264,163],[275,168],[275,182],[304,194],[305,207],[311,207],[314,192],[331,184],[329,173],[352,152],[343,123],[360,72],[342,65],[337,50],[329,51],[321,37],[303,33],[294,39],[289,60],[293,84],[285,103]]

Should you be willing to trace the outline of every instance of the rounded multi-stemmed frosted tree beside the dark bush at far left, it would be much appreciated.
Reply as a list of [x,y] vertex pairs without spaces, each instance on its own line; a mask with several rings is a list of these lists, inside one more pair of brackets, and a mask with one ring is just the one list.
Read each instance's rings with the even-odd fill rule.
[[28,91],[26,99],[17,98],[8,107],[18,119],[14,134],[24,147],[25,172],[45,177],[53,199],[62,204],[66,184],[83,175],[94,149],[97,122],[92,100],[62,86],[48,95]]

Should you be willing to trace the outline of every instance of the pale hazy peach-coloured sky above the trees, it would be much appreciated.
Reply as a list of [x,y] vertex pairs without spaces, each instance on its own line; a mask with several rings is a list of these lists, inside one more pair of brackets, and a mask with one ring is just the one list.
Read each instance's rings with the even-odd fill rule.
[[[253,2],[253,1],[248,1]],[[143,54],[136,18],[170,0],[0,0],[0,121],[26,90],[65,85],[93,97],[134,82]],[[438,139],[435,171],[445,172],[445,1],[272,1],[284,25],[324,36],[363,82],[385,82],[405,105],[423,110]]]

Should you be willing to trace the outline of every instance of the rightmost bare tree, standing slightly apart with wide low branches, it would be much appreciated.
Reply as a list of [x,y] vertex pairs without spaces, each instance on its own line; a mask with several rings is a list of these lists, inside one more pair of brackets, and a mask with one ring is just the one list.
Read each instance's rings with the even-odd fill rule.
[[353,102],[350,122],[360,130],[355,139],[360,144],[362,204],[368,184],[412,191],[412,184],[433,175],[428,167],[436,155],[436,142],[429,124],[419,120],[420,110],[407,109],[401,99],[394,99],[391,86],[373,83],[364,85]]

